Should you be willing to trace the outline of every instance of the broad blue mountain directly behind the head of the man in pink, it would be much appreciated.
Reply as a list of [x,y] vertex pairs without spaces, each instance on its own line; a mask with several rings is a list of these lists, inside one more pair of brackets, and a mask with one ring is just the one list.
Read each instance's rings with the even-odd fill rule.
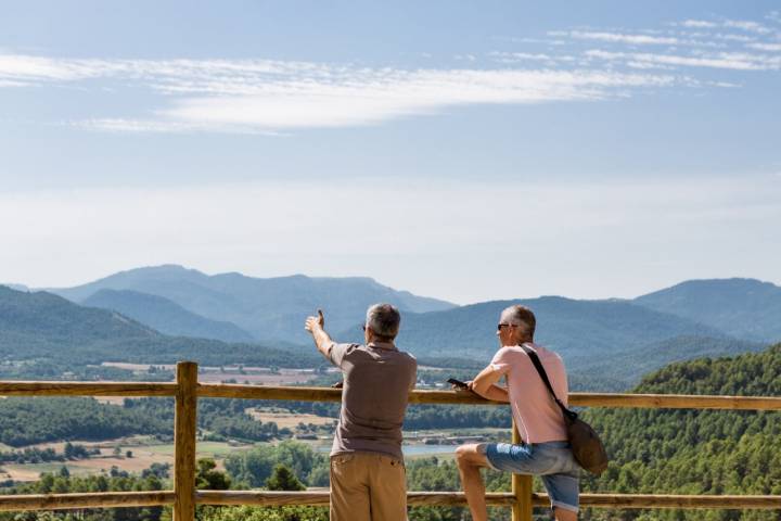
[[[639,306],[628,301],[576,301],[543,296],[491,301],[401,319],[399,347],[426,357],[461,357],[487,365],[498,348],[496,325],[512,304],[537,316],[538,343],[559,352],[574,381],[588,389],[628,389],[640,377],[670,361],[761,350],[710,326]],[[358,341],[350,328],[338,340]]]

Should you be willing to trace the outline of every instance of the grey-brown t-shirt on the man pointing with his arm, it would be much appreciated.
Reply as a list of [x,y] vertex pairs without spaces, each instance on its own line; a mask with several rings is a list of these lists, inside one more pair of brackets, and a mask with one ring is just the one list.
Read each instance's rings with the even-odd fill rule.
[[342,369],[342,410],[331,456],[369,452],[401,459],[401,425],[414,387],[418,360],[392,343],[331,344],[331,363]]

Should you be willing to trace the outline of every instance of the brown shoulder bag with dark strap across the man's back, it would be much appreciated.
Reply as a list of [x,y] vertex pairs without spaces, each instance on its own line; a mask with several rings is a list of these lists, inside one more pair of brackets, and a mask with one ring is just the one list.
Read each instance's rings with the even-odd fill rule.
[[564,415],[567,440],[569,441],[569,445],[572,445],[575,460],[578,465],[580,465],[580,467],[592,474],[601,474],[607,468],[607,453],[604,449],[604,445],[602,445],[602,441],[597,435],[597,432],[591,429],[591,425],[578,418],[577,412],[564,407],[564,404],[562,404],[556,397],[555,392],[553,392],[553,386],[550,384],[550,380],[548,380],[548,373],[542,367],[542,363],[540,361],[539,356],[537,356],[537,353],[526,345],[522,345],[521,348],[524,350],[532,359],[532,364],[534,364],[535,369],[537,369],[537,372],[542,379],[542,382],[548,387],[548,391],[550,391],[551,396],[553,396],[553,401]]

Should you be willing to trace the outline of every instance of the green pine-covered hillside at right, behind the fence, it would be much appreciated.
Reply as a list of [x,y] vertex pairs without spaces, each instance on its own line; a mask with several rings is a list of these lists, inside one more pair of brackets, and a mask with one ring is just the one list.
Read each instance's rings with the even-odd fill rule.
[[[781,344],[733,358],[674,364],[633,392],[781,395]],[[593,409],[612,463],[591,491],[680,494],[781,494],[781,414],[724,410]],[[640,519],[594,510],[582,519]],[[778,520],[772,511],[654,511],[642,519]]]

